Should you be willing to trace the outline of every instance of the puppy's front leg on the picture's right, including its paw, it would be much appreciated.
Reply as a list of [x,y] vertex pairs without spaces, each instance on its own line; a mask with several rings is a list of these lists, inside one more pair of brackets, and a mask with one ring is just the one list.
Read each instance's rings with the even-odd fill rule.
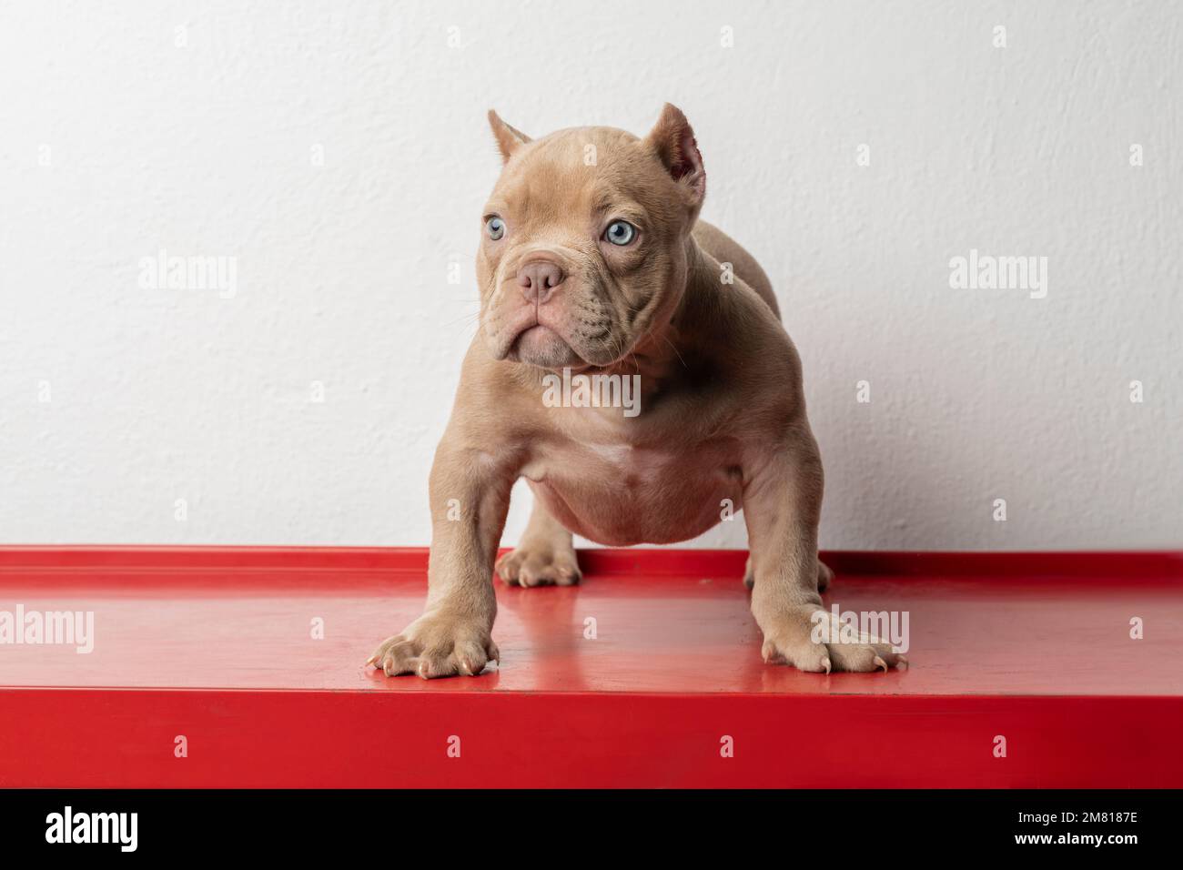
[[750,465],[744,515],[755,568],[751,612],[765,662],[803,671],[886,670],[899,662],[878,638],[843,638],[817,592],[822,469],[804,421]]

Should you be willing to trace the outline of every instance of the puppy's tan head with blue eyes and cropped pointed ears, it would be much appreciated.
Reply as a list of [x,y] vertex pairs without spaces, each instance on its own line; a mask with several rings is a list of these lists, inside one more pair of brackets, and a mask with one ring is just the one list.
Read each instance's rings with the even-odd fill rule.
[[531,140],[489,112],[505,161],[477,253],[498,360],[610,366],[670,320],[706,191],[694,133],[666,104],[645,138],[608,127]]

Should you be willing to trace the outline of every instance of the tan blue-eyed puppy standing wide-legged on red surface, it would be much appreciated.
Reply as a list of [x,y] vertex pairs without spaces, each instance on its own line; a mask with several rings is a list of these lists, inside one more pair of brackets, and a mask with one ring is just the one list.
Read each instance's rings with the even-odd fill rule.
[[[584,127],[531,140],[489,120],[504,167],[480,224],[480,328],[432,465],[427,605],[367,664],[432,678],[498,658],[493,558],[519,477],[534,513],[496,565],[506,584],[578,582],[571,533],[670,543],[742,508],[765,662],[901,660],[874,638],[815,631],[830,573],[801,361],[768,276],[698,220],[706,173],[683,112],[667,104],[645,138]],[[544,401],[560,373],[635,385],[639,407]]]

